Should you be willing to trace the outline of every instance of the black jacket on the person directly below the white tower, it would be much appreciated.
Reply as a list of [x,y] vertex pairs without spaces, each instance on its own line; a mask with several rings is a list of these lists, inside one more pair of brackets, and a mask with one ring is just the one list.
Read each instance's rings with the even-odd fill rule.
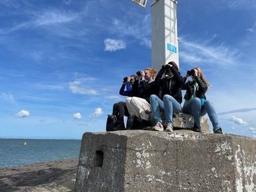
[[[164,70],[161,69],[158,72],[158,75],[156,76],[156,86],[158,86],[158,97],[160,99],[163,99],[164,95],[171,95],[176,99],[177,102],[181,104],[182,102],[182,93],[181,88],[183,85],[183,77],[181,76],[181,73],[179,73],[174,66],[170,68],[170,70],[173,73],[172,78],[166,78],[164,77],[161,79],[161,77],[164,74]],[[171,85],[170,85],[171,82]]]

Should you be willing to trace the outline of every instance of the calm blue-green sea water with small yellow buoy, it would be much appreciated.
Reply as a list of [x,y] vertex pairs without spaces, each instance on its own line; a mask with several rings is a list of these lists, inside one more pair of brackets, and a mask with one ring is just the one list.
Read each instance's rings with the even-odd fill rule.
[[81,140],[0,139],[0,168],[78,158],[80,146]]

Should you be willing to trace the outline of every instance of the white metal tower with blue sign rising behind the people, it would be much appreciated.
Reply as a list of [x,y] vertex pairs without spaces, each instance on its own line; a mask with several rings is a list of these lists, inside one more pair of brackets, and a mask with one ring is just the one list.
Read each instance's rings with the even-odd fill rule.
[[[147,0],[132,0],[145,7]],[[152,0],[152,67],[175,61],[179,66],[177,0]]]

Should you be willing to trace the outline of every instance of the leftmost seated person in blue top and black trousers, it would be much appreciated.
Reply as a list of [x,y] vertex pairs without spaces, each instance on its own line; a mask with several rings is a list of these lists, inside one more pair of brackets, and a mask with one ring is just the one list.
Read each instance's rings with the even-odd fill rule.
[[[123,96],[132,97],[136,95],[135,89],[133,90],[133,85],[136,82],[136,75],[131,75],[130,77],[125,77],[122,82],[122,86],[119,90],[119,94]],[[135,83],[136,84],[136,83]],[[113,131],[125,130],[125,122],[124,116],[129,117],[129,112],[127,110],[127,106],[125,102],[118,102],[113,104],[113,113],[115,115],[118,122],[113,127]]]

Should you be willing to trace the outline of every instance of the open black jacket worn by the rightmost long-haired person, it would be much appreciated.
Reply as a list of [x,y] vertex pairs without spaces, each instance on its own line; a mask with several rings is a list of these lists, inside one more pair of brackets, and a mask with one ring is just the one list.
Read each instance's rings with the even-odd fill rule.
[[[208,89],[208,86],[203,83],[203,81],[200,79],[200,77],[195,77],[194,78],[196,83],[199,85],[197,90],[196,90],[196,97],[199,97],[199,99],[206,99],[205,97],[205,92]],[[182,89],[183,90],[187,90],[184,96],[184,99],[188,100],[192,97],[193,93],[194,93],[194,81],[188,81],[185,83],[185,81],[187,80],[186,77],[184,77],[184,84]]]

